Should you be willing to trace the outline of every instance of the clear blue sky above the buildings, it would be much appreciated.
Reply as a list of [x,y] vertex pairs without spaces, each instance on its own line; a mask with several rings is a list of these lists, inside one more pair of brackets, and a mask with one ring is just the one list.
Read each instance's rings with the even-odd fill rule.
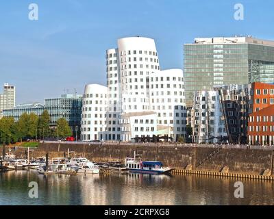
[[[30,3],[38,4],[38,21],[28,19]],[[236,3],[244,21],[234,20]],[[0,85],[16,86],[17,103],[105,85],[105,50],[126,36],[154,38],[162,69],[182,68],[183,44],[197,37],[274,40],[273,8],[272,0],[1,1]]]

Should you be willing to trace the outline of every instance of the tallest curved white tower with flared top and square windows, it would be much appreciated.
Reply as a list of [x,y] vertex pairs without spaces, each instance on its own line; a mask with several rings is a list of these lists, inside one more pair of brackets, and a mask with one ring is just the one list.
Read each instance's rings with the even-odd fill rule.
[[122,111],[150,110],[149,75],[160,70],[155,42],[150,38],[118,40]]

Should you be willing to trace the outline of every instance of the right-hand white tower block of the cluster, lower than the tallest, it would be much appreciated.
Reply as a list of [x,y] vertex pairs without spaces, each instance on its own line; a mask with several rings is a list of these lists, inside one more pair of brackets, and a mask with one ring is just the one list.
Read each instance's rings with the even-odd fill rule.
[[181,69],[162,70],[150,75],[151,110],[157,112],[158,125],[169,127],[176,140],[186,135],[186,101]]

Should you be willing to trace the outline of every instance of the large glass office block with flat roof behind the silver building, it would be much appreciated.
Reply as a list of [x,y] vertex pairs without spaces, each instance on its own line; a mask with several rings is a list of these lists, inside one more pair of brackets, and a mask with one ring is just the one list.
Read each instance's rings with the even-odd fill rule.
[[214,86],[274,82],[274,41],[251,37],[197,38],[184,44],[186,105]]

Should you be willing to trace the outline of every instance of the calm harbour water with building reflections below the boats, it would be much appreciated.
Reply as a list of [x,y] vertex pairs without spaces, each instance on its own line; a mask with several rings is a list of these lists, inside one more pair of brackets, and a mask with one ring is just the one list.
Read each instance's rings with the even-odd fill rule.
[[[38,198],[29,198],[29,182]],[[245,198],[234,197],[235,179],[165,175],[51,175],[0,173],[0,205],[273,205],[271,181],[242,180]]]

